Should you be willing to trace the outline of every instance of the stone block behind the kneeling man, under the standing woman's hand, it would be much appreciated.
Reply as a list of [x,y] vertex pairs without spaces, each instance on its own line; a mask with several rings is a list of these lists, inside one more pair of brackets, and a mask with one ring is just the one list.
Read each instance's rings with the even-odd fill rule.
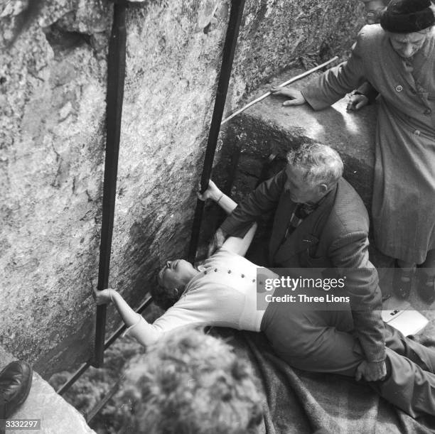
[[[299,75],[301,70],[292,70],[276,77],[273,85]],[[294,87],[302,89],[315,75],[308,76]],[[269,90],[264,86],[252,95],[254,99]],[[257,150],[282,153],[303,141],[318,141],[335,148],[345,163],[345,178],[363,197],[370,209],[372,195],[372,170],[374,167],[374,141],[376,109],[368,106],[359,112],[346,112],[347,99],[341,99],[328,109],[315,112],[308,104],[299,107],[283,107],[284,97],[267,97],[249,107],[235,118],[229,127],[229,136],[237,136],[242,148],[249,153]],[[232,130],[232,131],[231,131]],[[261,152],[260,151],[260,152]],[[254,151],[255,152],[255,151]]]

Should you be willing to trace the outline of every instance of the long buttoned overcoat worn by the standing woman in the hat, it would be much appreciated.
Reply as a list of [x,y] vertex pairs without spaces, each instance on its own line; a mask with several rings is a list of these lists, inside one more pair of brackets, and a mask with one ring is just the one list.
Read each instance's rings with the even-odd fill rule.
[[379,25],[365,26],[350,58],[302,94],[323,109],[369,81],[380,92],[372,217],[384,254],[421,264],[435,249],[435,28],[412,59]]

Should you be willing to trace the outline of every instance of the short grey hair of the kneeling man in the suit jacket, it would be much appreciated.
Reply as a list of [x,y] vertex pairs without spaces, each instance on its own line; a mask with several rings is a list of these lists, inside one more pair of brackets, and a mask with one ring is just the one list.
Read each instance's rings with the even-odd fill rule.
[[291,166],[304,170],[304,179],[311,185],[334,185],[343,175],[343,161],[330,146],[321,143],[304,143],[287,154]]

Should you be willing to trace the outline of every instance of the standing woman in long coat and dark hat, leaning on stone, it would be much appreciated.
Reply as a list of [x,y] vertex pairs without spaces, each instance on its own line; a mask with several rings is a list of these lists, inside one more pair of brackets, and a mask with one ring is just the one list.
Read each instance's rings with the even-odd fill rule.
[[372,217],[375,244],[397,259],[399,296],[422,264],[421,298],[435,300],[435,16],[429,0],[392,0],[380,25],[365,26],[350,58],[299,91],[275,87],[324,109],[362,82],[380,93]]

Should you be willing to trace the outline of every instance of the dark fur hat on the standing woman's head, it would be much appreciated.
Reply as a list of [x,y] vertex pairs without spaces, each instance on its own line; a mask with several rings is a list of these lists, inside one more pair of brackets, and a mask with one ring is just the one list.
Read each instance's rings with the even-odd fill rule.
[[392,0],[380,18],[382,28],[392,33],[414,33],[434,23],[430,0]]

